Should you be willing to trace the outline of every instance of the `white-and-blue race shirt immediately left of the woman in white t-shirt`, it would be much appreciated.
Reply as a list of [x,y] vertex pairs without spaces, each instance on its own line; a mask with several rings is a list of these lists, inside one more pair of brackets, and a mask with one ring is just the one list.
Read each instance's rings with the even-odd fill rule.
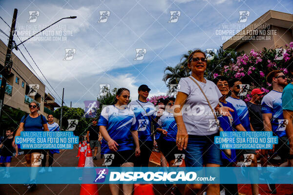
[[163,116],[158,120],[158,127],[168,132],[167,136],[161,135],[163,139],[167,141],[176,141],[177,124],[173,113],[164,111]]

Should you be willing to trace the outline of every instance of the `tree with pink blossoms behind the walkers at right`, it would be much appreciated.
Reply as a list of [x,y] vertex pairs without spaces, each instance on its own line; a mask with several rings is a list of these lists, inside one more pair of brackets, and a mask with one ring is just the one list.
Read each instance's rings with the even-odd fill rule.
[[[287,74],[287,61],[293,56],[293,42],[285,45],[283,50],[266,49],[254,51],[251,49],[249,54],[241,54],[236,61],[226,64],[221,69],[215,70],[212,74],[213,79],[219,75],[228,78],[239,78],[243,83],[250,84],[251,89],[258,87],[269,92],[271,84],[266,81],[266,76],[273,70],[281,70]],[[245,100],[251,97],[248,95]]]

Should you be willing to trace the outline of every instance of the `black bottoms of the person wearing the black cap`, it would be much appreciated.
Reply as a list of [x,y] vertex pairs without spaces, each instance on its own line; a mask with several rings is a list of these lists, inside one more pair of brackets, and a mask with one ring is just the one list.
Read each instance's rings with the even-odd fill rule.
[[141,150],[140,156],[135,158],[135,167],[148,167],[149,156],[151,155],[154,141],[139,140],[139,147]]

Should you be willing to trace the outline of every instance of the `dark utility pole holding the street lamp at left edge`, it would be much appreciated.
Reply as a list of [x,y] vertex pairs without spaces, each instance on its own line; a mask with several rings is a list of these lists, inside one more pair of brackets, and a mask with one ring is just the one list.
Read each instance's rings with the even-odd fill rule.
[[6,51],[6,58],[4,62],[4,69],[0,71],[2,75],[2,81],[1,81],[1,87],[0,87],[0,127],[2,124],[2,107],[4,105],[4,96],[5,96],[7,77],[10,75],[11,67],[12,67],[11,50],[13,46],[12,44],[13,44],[13,36],[15,33],[16,18],[17,18],[17,9],[14,9],[12,24],[10,28],[9,41],[8,41],[8,46]]

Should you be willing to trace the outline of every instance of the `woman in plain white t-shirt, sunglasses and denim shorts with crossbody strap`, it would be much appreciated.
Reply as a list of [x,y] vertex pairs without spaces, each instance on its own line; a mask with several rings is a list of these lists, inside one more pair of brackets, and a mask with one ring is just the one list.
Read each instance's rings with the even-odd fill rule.
[[[230,116],[229,111],[233,110],[228,107],[219,108],[219,98],[222,94],[212,81],[204,78],[207,68],[204,52],[192,52],[188,57],[188,68],[191,69],[191,78],[180,79],[180,89],[174,105],[174,117],[178,127],[176,143],[179,150],[185,150],[187,167],[220,167],[220,148],[214,144],[214,136],[218,135],[219,128],[209,103],[215,111],[227,116]],[[209,103],[192,79],[201,86]],[[187,184],[185,194],[198,192],[201,187],[202,184]],[[219,194],[219,184],[209,184],[207,193]]]

